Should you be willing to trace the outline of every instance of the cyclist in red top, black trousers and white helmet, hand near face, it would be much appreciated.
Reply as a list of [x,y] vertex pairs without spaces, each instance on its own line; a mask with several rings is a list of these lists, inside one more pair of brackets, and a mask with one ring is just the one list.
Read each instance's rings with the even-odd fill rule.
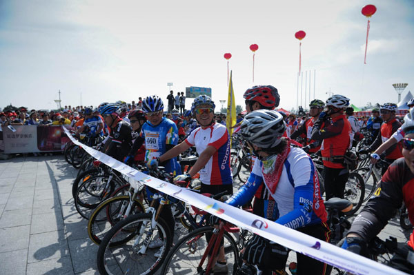
[[[351,125],[344,115],[344,108],[349,99],[334,94],[326,100],[326,112],[319,114],[319,119],[312,129],[311,139],[323,141],[321,146],[324,161],[324,183],[326,200],[333,197],[344,198],[349,171],[344,165],[344,155],[350,145]],[[331,120],[328,120],[331,118]]]

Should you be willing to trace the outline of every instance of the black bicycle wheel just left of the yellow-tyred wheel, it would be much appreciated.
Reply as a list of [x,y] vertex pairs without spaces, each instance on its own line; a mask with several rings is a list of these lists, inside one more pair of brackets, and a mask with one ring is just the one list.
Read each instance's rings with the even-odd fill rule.
[[75,196],[75,207],[77,212],[89,219],[95,207],[109,198],[115,190],[115,181],[108,184],[108,176],[93,176],[84,181],[78,188]]

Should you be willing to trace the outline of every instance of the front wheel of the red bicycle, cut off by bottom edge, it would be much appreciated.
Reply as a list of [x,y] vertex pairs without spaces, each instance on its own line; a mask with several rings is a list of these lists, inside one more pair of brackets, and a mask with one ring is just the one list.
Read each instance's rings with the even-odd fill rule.
[[[208,245],[206,234],[213,234],[213,230],[214,227],[201,227],[181,238],[168,253],[161,274],[205,274],[208,258],[202,267],[198,266]],[[224,232],[223,241],[228,274],[237,274],[237,244],[228,232]]]

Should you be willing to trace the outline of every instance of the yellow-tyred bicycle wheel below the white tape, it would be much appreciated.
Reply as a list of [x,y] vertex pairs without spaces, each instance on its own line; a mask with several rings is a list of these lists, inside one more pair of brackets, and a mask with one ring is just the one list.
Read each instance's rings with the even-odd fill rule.
[[[99,245],[105,234],[116,223],[126,218],[129,203],[129,196],[114,196],[95,208],[88,221],[88,235],[92,242]],[[136,199],[132,203],[128,216],[138,213],[144,213],[144,205]]]

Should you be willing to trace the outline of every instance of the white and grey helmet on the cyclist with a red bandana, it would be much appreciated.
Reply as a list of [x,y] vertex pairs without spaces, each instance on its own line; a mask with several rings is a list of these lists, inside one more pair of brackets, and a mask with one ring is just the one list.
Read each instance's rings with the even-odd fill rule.
[[282,114],[275,110],[256,110],[244,116],[240,126],[240,134],[246,139],[262,148],[277,146],[286,125]]

